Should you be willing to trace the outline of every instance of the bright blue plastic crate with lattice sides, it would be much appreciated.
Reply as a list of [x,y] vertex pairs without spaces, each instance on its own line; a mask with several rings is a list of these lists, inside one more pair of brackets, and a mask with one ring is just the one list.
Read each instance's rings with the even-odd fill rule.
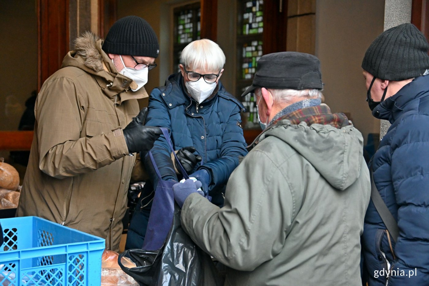
[[100,286],[103,238],[39,217],[0,223],[0,285]]

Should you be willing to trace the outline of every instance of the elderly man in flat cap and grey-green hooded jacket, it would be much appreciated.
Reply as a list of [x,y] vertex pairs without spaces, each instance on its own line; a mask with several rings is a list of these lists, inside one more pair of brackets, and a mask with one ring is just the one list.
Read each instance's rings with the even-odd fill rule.
[[362,285],[360,235],[370,196],[363,138],[320,105],[317,57],[260,58],[253,85],[263,132],[232,173],[223,208],[176,184],[181,222],[227,266],[226,285]]

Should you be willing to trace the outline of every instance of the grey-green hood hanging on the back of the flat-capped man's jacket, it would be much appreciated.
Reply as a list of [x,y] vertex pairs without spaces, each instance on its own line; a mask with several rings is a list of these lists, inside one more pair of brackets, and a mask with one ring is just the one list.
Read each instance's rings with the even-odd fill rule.
[[360,175],[363,164],[363,137],[352,124],[335,128],[331,125],[280,120],[267,128],[259,141],[275,136],[296,150],[317,172],[338,190],[345,190]]

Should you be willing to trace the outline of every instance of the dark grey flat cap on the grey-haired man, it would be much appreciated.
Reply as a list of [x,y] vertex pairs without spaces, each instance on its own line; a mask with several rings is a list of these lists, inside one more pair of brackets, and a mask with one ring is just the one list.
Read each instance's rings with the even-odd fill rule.
[[242,96],[254,92],[257,87],[296,90],[322,89],[320,61],[312,54],[296,51],[263,55],[258,60],[252,85]]

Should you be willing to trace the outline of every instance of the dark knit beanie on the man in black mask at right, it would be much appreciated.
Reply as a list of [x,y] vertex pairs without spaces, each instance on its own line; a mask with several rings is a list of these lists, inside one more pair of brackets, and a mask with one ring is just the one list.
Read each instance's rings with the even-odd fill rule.
[[428,41],[410,23],[385,30],[369,46],[362,68],[376,78],[402,81],[429,69]]

